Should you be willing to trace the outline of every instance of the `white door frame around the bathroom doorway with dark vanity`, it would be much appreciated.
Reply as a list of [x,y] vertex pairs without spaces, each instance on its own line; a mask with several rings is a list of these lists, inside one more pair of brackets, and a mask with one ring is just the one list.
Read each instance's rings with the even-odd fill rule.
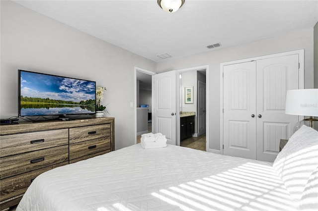
[[[205,119],[205,127],[206,127],[206,143],[205,143],[205,150],[206,152],[214,152],[214,150],[209,149],[209,121],[210,121],[210,115],[209,115],[209,65],[202,65],[202,66],[196,66],[196,67],[189,67],[184,69],[178,69],[177,74],[179,75],[182,72],[190,72],[190,71],[197,71],[197,70],[203,70],[205,69],[205,78],[206,78],[206,97],[205,97],[205,104],[206,104],[206,119]],[[178,77],[178,87],[180,87],[180,77]],[[180,90],[177,91],[177,131],[180,131]],[[197,111],[196,111],[197,112]],[[196,114],[197,115],[197,114]],[[176,137],[176,145],[180,146],[180,133],[177,133]]]

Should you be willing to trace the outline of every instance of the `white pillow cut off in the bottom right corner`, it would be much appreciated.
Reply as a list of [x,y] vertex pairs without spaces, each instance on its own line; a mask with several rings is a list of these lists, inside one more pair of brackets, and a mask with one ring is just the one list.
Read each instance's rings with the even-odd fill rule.
[[299,203],[301,211],[318,210],[318,168],[310,175]]

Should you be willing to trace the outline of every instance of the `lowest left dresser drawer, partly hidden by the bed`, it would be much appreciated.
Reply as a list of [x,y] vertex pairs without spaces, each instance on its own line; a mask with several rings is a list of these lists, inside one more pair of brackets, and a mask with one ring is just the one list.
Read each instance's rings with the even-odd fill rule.
[[24,174],[19,174],[16,176],[12,176],[9,178],[5,178],[0,180],[0,198],[1,201],[10,199],[12,197],[18,196],[20,194],[23,194],[26,189],[29,187],[31,184],[32,180],[35,179],[38,175],[41,173],[51,170],[53,168],[66,165],[69,162],[61,162],[55,165],[50,165],[45,168],[37,169],[34,171],[30,171]]

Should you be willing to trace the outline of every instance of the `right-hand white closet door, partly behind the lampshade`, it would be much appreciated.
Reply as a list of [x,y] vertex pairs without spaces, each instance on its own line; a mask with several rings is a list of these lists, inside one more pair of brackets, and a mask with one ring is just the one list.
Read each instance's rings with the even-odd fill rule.
[[286,91],[299,89],[298,54],[256,61],[256,159],[274,161],[297,115],[285,114]]

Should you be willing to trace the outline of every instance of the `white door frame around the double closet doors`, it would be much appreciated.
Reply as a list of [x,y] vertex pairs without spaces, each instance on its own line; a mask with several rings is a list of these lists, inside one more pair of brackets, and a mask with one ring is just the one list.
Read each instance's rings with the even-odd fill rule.
[[[252,58],[245,58],[245,59],[239,59],[234,61],[228,61],[228,62],[222,62],[220,63],[220,154],[223,155],[223,67],[225,65],[229,64],[236,64],[236,63],[242,63],[242,62],[248,62],[253,60],[260,60],[260,59],[266,59],[266,58],[272,58],[272,57],[279,57],[279,56],[285,56],[285,55],[293,55],[298,54],[299,58],[299,72],[298,72],[298,85],[300,89],[304,89],[305,87],[305,50],[296,50],[296,51],[290,51],[290,52],[283,52],[283,53],[274,53],[269,55],[263,55],[263,56],[257,56]],[[304,119],[304,116],[299,116],[299,120]]]

